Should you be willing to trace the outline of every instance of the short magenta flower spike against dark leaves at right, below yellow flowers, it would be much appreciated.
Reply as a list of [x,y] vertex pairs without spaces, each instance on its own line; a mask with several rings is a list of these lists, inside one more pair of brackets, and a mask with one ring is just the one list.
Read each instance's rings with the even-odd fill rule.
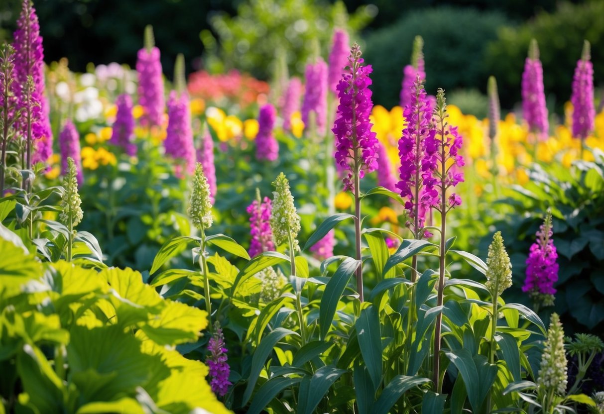
[[528,292],[533,299],[545,306],[553,305],[556,293],[553,285],[558,280],[558,255],[552,235],[551,212],[547,212],[536,234],[537,240],[530,246],[526,260],[526,279],[522,286],[522,291]]

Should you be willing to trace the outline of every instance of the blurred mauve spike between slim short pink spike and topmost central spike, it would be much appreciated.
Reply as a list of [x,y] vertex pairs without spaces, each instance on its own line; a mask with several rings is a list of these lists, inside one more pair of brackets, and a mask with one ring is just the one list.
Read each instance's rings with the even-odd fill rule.
[[302,100],[302,122],[308,128],[310,112],[315,113],[316,133],[325,134],[327,124],[327,64],[318,58],[306,65],[306,92]]

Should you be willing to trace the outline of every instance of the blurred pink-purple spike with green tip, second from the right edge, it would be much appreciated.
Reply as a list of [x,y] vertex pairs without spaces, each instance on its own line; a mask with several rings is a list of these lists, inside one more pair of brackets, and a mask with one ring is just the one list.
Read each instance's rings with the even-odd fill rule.
[[539,60],[539,46],[533,39],[522,72],[522,112],[528,129],[541,139],[547,139],[549,122],[545,106],[543,68]]

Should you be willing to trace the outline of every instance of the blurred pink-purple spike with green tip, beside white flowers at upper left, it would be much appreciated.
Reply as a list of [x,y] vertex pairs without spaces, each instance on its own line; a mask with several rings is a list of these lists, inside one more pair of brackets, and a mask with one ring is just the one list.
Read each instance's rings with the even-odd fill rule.
[[145,28],[145,46],[137,54],[138,103],[143,107],[141,124],[160,126],[164,115],[164,79],[153,28]]

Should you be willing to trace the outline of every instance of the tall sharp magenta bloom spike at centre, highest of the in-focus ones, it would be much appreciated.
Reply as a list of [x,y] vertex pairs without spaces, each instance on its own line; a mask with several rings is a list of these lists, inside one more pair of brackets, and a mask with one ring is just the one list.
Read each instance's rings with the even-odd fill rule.
[[361,48],[355,43],[350,49],[349,67],[337,88],[339,105],[332,132],[336,136],[336,162],[348,171],[343,179],[345,190],[354,188],[355,174],[361,179],[365,171],[377,169],[379,142],[369,121],[373,108],[369,89],[372,69],[371,65],[362,66],[363,62]]

